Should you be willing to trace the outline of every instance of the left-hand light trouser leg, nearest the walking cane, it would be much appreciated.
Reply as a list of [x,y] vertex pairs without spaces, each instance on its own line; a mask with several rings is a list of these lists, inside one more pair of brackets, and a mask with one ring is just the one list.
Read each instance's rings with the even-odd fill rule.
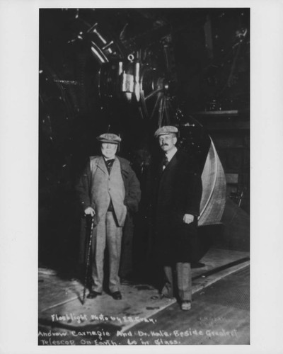
[[105,218],[93,229],[93,290],[96,292],[103,291],[103,263],[104,263],[104,251],[105,251]]

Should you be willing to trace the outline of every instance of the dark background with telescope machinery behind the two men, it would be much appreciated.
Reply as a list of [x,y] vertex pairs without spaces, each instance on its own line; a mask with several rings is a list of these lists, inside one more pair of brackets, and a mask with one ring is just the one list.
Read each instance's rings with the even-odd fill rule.
[[141,183],[121,271],[145,268],[163,125],[179,128],[200,172],[212,139],[224,169],[226,206],[200,227],[202,254],[248,250],[248,222],[233,215],[250,212],[249,8],[41,8],[39,34],[39,265],[76,274],[86,223],[74,186],[99,154],[96,137],[113,132]]

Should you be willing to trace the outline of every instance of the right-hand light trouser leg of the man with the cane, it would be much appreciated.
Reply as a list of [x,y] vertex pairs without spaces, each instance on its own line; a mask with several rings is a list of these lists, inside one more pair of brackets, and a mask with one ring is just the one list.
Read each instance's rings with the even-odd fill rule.
[[109,290],[120,291],[119,267],[121,257],[122,227],[117,227],[112,212],[106,214],[106,242],[109,253]]

